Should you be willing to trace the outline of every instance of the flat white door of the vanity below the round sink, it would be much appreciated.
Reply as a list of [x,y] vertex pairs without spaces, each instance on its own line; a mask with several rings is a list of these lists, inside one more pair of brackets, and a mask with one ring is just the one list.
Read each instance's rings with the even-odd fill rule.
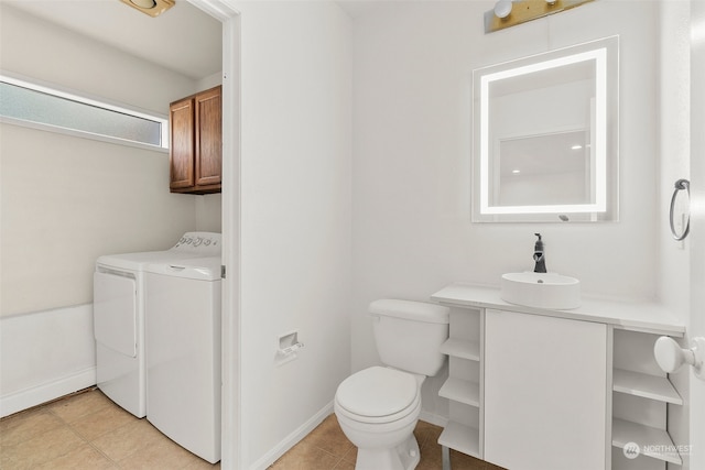
[[597,470],[607,451],[607,326],[487,310],[485,459]]

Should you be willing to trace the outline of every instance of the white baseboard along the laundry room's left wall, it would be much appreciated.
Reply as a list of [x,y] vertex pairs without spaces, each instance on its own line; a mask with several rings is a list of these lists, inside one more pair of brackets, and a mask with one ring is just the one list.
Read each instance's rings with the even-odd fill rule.
[[0,417],[9,416],[96,384],[96,368],[0,396]]

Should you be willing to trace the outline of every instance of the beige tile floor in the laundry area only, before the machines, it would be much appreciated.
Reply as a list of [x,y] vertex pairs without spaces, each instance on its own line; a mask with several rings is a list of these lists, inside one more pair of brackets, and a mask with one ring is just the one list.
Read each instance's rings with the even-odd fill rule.
[[0,419],[0,469],[219,469],[98,390]]

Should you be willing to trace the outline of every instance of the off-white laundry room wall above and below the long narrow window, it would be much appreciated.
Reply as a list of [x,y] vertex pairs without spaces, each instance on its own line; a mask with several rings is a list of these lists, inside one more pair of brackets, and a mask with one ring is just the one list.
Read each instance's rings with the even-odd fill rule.
[[[164,116],[193,92],[191,79],[1,8],[4,70]],[[98,255],[165,249],[196,228],[195,196],[169,193],[164,152],[1,131],[2,315],[90,303]]]

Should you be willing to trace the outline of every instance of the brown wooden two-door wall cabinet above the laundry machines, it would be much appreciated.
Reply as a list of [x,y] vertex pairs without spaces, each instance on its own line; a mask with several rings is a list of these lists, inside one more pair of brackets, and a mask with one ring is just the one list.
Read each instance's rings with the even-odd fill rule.
[[223,102],[217,86],[170,105],[169,151],[172,193],[220,193]]

